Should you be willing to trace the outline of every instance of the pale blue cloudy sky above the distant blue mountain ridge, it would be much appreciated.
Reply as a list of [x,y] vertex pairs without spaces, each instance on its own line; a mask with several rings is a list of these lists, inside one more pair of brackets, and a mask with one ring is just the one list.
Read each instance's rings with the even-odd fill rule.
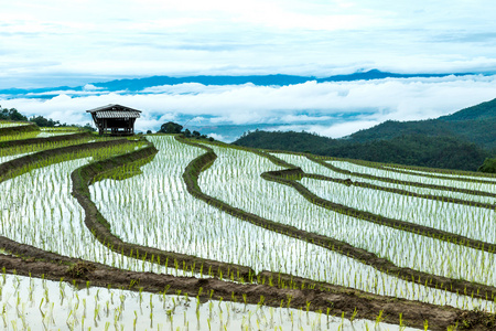
[[496,72],[493,0],[2,2],[0,88],[149,75]]

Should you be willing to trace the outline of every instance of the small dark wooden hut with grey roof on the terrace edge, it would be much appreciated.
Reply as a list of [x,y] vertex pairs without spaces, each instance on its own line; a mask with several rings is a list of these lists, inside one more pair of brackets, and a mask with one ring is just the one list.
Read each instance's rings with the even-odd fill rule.
[[112,104],[95,109],[90,113],[98,134],[110,134],[111,136],[134,135],[134,121],[140,117],[141,110]]

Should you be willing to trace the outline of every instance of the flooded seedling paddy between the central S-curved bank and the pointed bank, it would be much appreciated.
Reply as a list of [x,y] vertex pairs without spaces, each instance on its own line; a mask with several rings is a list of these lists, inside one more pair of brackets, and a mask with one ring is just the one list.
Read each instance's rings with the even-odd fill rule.
[[[205,193],[268,220],[346,242],[401,267],[495,286],[494,254],[373,224],[315,206],[298,192],[260,178],[278,170],[254,153],[214,147],[216,162],[201,177]],[[434,254],[435,253],[435,254]],[[439,259],[439,256],[443,259]],[[486,273],[478,273],[481,265]]]

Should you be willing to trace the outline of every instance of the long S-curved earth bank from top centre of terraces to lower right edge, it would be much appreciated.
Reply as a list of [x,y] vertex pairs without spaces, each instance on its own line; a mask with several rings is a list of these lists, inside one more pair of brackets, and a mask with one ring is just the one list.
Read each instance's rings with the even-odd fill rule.
[[[337,252],[339,254],[346,255],[348,257],[352,257],[356,260],[362,261],[363,264],[369,265],[373,268],[376,268],[377,270],[381,273],[386,273],[389,275],[392,275],[395,277],[398,277],[400,279],[417,282],[419,285],[436,288],[436,289],[443,289],[446,291],[451,291],[454,293],[468,293],[475,298],[486,299],[490,298],[492,300],[496,297],[496,288],[492,286],[486,286],[482,284],[475,284],[466,280],[461,279],[453,279],[436,275],[431,275],[418,270],[413,270],[410,268],[403,268],[398,267],[393,263],[391,263],[388,259],[380,258],[374,253],[370,253],[368,250],[355,247],[353,245],[349,245],[345,242],[334,239],[332,237],[319,235],[311,232],[305,232],[300,228],[296,228],[291,225],[285,225],[281,223],[277,223],[263,217],[260,217],[258,215],[245,212],[240,209],[234,207],[218,199],[215,199],[213,196],[209,196],[202,192],[202,190],[198,186],[198,175],[200,173],[208,168],[216,159],[217,156],[215,154],[214,150],[207,146],[198,145],[192,141],[187,141],[184,138],[176,138],[179,141],[203,148],[207,152],[197,157],[194,159],[190,164],[186,167],[183,179],[186,183],[186,189],[190,194],[195,196],[196,199],[200,199],[209,205],[213,205],[229,215],[233,215],[235,217],[240,218],[241,221],[249,222],[251,224],[261,226],[263,228],[267,228],[269,231],[274,231],[277,233],[288,235],[298,239],[303,239],[309,243],[319,245],[321,247],[324,247],[326,249],[332,249],[333,252]],[[250,149],[246,149],[250,151]],[[263,152],[261,152],[263,153]],[[281,160],[282,161],[282,160]],[[289,170],[279,170],[279,172],[288,172],[293,171],[300,173],[301,169],[289,169]],[[294,173],[292,175],[298,177],[299,174]],[[284,173],[284,177],[289,175],[288,173]]]

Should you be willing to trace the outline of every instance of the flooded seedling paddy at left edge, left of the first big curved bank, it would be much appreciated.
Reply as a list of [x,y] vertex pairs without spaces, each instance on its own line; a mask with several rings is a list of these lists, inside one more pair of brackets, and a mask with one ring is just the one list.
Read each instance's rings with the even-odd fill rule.
[[[94,152],[104,158],[126,152],[134,146],[112,147]],[[132,270],[163,270],[162,267],[111,252],[95,239],[84,224],[84,211],[71,195],[71,173],[90,161],[84,152],[62,156],[46,167],[31,169],[0,183],[0,234],[44,250],[71,257],[103,261]],[[80,158],[85,157],[85,158]],[[66,159],[76,159],[66,161]],[[50,194],[45,194],[50,192]],[[33,232],[36,228],[36,233]]]

